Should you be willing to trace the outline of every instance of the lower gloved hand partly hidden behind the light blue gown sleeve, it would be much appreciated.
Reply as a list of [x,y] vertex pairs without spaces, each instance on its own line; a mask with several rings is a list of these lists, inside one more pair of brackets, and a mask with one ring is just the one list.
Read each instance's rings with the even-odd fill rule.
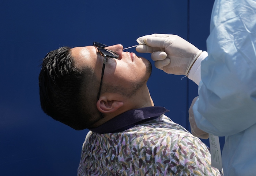
[[204,132],[203,130],[200,130],[197,127],[196,122],[195,122],[195,117],[194,117],[192,107],[195,104],[197,98],[198,98],[198,96],[193,99],[193,101],[191,103],[191,106],[189,107],[189,110],[188,110],[188,114],[189,114],[188,120],[189,120],[189,123],[190,123],[191,133],[193,134],[193,136],[196,136],[196,137],[199,137],[199,138],[202,138],[202,139],[208,139],[209,134]]

